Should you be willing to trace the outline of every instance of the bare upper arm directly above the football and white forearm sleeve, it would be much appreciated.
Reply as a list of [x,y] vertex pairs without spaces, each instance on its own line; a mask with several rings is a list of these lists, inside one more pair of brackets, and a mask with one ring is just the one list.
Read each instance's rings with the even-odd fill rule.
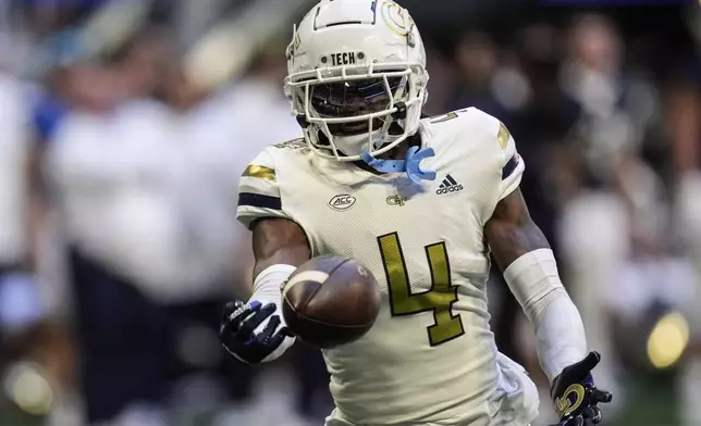
[[260,218],[251,224],[256,266],[261,271],[285,264],[299,266],[311,258],[309,240],[302,226],[286,218]]

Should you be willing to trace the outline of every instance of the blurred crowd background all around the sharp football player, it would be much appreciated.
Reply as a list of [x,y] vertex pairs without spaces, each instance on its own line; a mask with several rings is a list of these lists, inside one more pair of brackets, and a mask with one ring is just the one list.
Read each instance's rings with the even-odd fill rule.
[[[516,137],[606,424],[701,426],[700,4],[398,2],[427,112],[478,106]],[[317,351],[253,368],[217,337],[249,291],[238,176],[300,136],[283,52],[313,3],[0,0],[0,425],[322,424]],[[490,291],[552,421],[532,331]]]

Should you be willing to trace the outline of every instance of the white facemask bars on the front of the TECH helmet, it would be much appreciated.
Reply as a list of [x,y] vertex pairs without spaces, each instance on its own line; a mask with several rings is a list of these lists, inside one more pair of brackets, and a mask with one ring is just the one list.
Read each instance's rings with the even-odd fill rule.
[[414,135],[426,99],[422,64],[339,66],[293,74],[285,89],[321,156],[358,161],[382,154]]

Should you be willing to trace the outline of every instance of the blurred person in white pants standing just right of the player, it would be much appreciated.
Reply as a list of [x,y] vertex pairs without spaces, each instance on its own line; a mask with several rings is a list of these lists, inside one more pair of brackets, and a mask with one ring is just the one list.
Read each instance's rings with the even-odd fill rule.
[[[557,172],[574,184],[561,192],[566,201],[561,243],[589,344],[603,354],[602,386],[617,393],[615,408],[625,394],[610,324],[620,311],[605,295],[634,290],[622,287],[624,271],[669,260],[668,200],[659,175],[641,158],[657,99],[626,70],[619,35],[600,15],[576,21],[561,76],[581,109],[566,156],[574,163],[561,163]],[[649,96],[641,99],[641,91]],[[644,309],[657,301],[652,297]]]

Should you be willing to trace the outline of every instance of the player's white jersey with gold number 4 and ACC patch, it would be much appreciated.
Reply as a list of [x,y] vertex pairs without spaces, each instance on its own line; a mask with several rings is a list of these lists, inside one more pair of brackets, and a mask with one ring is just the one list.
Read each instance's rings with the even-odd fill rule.
[[[268,148],[244,172],[238,220],[295,221],[312,255],[357,259],[377,277],[372,329],[324,351],[339,416],[426,425],[467,415],[489,425],[514,389],[504,389],[489,325],[483,228],[524,162],[506,127],[474,108],[423,120],[420,134],[435,151],[421,166],[438,174],[420,185],[323,160],[302,140]],[[525,415],[506,423],[528,424],[534,412]]]

